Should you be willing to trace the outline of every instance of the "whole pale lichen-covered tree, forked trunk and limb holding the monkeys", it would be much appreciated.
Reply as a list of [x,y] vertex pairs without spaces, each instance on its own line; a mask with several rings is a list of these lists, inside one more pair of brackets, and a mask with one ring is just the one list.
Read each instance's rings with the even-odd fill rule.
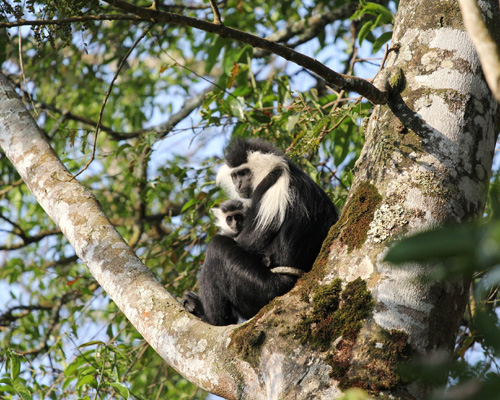
[[[498,21],[498,2],[483,2]],[[241,326],[184,312],[64,168],[0,76],[0,145],[96,280],[166,362],[228,399],[333,399],[359,386],[424,399],[397,363],[449,351],[468,282],[384,262],[400,237],[481,215],[498,104],[456,1],[401,1],[348,201],[313,271]]]

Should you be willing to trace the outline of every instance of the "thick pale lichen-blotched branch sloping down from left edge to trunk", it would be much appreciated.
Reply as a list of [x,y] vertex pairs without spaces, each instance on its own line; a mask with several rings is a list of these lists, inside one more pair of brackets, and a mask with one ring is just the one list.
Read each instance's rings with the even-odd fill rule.
[[209,326],[184,311],[123,241],[93,194],[72,178],[1,74],[0,147],[78,257],[158,354],[196,385],[235,398],[241,384],[237,377],[243,379],[241,371],[248,367],[227,348],[233,328]]

